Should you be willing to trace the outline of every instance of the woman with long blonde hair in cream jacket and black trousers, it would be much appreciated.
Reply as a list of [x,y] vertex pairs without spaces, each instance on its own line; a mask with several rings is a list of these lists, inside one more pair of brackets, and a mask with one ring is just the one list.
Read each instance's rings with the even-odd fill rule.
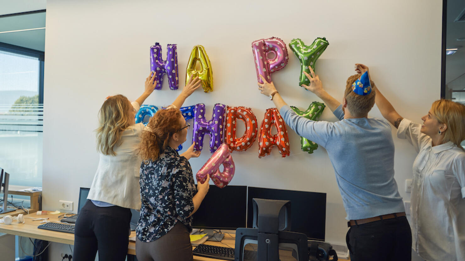
[[[75,261],[124,261],[127,254],[131,210],[140,210],[138,155],[142,123],[135,124],[140,105],[155,88],[155,74],[146,78],[145,90],[135,101],[124,95],[107,97],[99,112],[97,150],[99,166],[74,228]],[[201,86],[189,79],[170,107],[181,108],[186,98]],[[192,146],[191,146],[192,147]],[[193,147],[192,147],[193,148]]]

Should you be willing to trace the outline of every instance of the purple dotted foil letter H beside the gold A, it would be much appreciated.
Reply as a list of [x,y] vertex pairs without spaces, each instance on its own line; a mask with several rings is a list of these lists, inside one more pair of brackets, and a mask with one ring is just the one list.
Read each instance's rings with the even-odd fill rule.
[[156,73],[155,81],[156,90],[161,89],[163,85],[163,75],[168,75],[170,89],[178,89],[178,54],[176,45],[167,45],[166,61],[161,57],[161,46],[155,43],[150,47],[150,70]]

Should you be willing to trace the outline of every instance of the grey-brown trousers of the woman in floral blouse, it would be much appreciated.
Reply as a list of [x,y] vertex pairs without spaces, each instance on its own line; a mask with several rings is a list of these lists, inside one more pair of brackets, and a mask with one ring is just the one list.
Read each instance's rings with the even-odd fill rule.
[[192,244],[186,226],[177,222],[166,235],[153,242],[136,237],[138,261],[192,261]]

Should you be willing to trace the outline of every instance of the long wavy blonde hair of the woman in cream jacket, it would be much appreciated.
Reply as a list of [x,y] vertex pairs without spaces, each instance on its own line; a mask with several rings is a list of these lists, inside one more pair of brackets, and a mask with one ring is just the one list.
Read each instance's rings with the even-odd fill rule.
[[129,100],[124,95],[113,95],[103,102],[99,111],[97,150],[104,155],[116,156],[113,148],[119,145],[122,132],[131,125]]

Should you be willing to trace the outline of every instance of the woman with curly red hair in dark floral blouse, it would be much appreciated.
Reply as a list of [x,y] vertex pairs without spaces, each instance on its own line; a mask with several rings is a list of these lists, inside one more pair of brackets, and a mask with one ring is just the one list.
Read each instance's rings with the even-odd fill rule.
[[193,145],[179,156],[190,125],[179,109],[159,110],[142,133],[140,197],[136,255],[140,261],[192,260],[192,214],[208,192],[208,180],[195,188],[190,158],[199,157]]

